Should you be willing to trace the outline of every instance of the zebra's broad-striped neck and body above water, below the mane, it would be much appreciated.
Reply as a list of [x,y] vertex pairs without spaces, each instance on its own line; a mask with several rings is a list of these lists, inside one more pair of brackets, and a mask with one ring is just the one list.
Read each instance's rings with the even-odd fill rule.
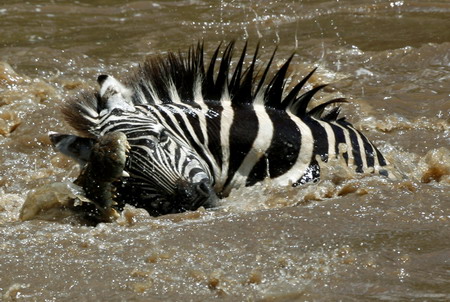
[[[213,105],[205,110],[174,104],[140,110],[153,116],[158,124],[171,129],[181,141],[196,150],[211,171],[215,191],[222,195],[267,177],[282,186],[317,180],[320,176],[317,156],[327,162],[341,154],[359,173],[370,167],[380,172],[380,167],[386,165],[376,147],[345,121],[301,119],[263,105],[243,107],[247,108],[232,108],[226,103],[220,105],[220,109]],[[225,122],[215,125],[216,131],[220,132],[216,134],[218,139],[210,144],[207,129],[218,121],[218,112]],[[242,116],[235,116],[236,112]],[[232,141],[232,137],[240,140]],[[353,147],[339,150],[340,144],[344,148]]]

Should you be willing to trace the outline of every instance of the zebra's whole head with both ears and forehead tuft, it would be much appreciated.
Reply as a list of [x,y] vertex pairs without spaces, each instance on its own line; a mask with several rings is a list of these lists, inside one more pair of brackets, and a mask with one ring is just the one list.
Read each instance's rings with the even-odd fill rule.
[[216,200],[213,178],[197,152],[163,126],[148,108],[135,106],[128,88],[116,79],[100,76],[98,83],[100,91],[95,100],[92,94],[81,95],[63,110],[72,125],[80,125],[75,127],[77,130],[94,138],[52,133],[50,138],[55,149],[89,167],[91,162],[99,161],[95,157],[104,156],[107,160],[115,156],[111,148],[107,152],[92,150],[99,148],[97,142],[102,137],[121,132],[130,148],[124,173],[115,182],[118,199],[115,201],[119,205],[129,203],[147,209],[152,215],[212,205]]

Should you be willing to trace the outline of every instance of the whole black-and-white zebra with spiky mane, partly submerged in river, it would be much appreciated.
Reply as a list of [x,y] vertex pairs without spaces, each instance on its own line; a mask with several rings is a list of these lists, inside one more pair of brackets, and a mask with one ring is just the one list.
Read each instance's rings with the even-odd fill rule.
[[[208,64],[203,43],[151,56],[124,81],[100,75],[98,91],[82,92],[63,105],[66,121],[80,136],[51,133],[50,139],[57,151],[97,172],[81,182],[91,192],[87,197],[95,199],[87,187],[111,165],[95,167],[93,158],[108,160],[119,149],[121,173],[106,181],[115,193],[97,198],[97,206],[128,203],[154,216],[214,206],[233,188],[266,178],[280,186],[316,182],[319,163],[333,158],[343,158],[358,173],[389,176],[387,160],[339,117],[340,107],[327,108],[345,99],[308,109],[326,86],[300,93],[316,68],[285,91],[294,55],[272,72],[276,49],[264,67],[257,63],[259,46],[248,60],[246,43],[237,62],[234,49],[234,42],[219,45]],[[124,142],[93,151],[117,132]]]

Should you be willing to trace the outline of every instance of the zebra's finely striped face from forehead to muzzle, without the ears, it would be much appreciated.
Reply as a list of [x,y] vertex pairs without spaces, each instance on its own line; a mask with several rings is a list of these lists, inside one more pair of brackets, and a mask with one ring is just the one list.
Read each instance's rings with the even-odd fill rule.
[[[148,116],[127,117],[120,130],[131,146],[119,193],[152,215],[196,210],[215,198],[212,177],[198,154]],[[145,125],[144,125],[145,124]]]

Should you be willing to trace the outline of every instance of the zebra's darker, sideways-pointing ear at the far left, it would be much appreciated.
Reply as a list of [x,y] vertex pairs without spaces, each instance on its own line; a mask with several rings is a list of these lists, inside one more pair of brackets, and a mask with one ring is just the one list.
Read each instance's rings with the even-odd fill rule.
[[95,139],[56,132],[49,132],[48,136],[56,151],[75,159],[81,166],[89,161]]

